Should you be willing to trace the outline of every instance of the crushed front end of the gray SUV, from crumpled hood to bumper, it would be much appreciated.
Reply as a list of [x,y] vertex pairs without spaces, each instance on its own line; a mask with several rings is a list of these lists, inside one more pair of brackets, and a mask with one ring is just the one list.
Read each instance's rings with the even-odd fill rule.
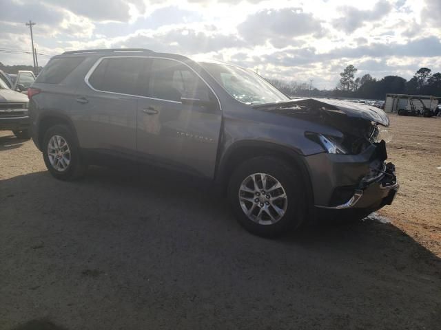
[[[301,102],[300,102],[301,104]],[[392,203],[398,192],[395,166],[387,163],[384,126],[389,118],[381,110],[353,109],[349,102],[308,100],[300,107],[316,113],[316,120],[340,131],[340,136],[307,132],[322,153],[305,157],[319,214],[365,217]],[[364,106],[365,107],[365,106]],[[372,111],[372,112],[370,112]]]

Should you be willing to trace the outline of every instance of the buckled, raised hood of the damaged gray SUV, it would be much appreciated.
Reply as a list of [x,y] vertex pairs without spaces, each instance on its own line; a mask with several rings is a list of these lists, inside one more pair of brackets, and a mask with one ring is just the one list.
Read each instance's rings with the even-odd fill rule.
[[296,116],[300,113],[309,113],[311,115],[320,115],[327,113],[330,116],[345,116],[347,118],[369,120],[382,126],[389,126],[389,117],[387,114],[376,107],[366,104],[358,104],[343,100],[329,100],[325,98],[299,98],[286,102],[258,104],[253,106],[255,109],[265,111],[274,110],[283,115]]

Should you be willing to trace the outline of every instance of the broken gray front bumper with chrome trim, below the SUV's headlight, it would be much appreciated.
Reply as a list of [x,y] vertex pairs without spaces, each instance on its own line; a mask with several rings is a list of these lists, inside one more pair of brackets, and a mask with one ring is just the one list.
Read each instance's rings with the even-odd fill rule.
[[359,155],[320,153],[305,157],[311,173],[314,206],[369,214],[389,205],[398,192],[395,166],[384,164],[384,143]]

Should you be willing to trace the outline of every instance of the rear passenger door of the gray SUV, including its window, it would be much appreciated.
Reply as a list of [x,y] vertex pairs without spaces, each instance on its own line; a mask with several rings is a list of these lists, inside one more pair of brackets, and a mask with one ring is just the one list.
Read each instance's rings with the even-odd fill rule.
[[145,59],[101,58],[76,93],[72,116],[82,148],[136,157],[136,89]]

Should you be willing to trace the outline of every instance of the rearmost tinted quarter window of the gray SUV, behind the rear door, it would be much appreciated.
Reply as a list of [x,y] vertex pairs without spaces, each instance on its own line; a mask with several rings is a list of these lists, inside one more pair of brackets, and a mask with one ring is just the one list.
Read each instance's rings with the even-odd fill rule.
[[84,57],[52,58],[37,77],[37,83],[59,84],[83,61]]

